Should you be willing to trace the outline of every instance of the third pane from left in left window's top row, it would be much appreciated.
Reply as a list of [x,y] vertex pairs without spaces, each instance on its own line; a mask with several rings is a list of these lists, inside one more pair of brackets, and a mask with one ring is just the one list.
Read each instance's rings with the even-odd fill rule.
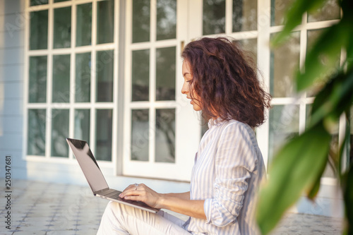
[[90,45],[91,37],[92,37],[92,4],[77,5],[76,47]]

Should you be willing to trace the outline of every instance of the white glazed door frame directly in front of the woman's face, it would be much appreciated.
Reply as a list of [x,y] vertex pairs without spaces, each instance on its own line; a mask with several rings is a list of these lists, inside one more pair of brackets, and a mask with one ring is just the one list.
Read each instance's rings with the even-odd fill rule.
[[[180,52],[187,41],[185,20],[187,1],[177,1],[177,38],[172,40],[155,39],[156,35],[156,0],[150,2],[150,41],[132,43],[132,1],[126,2],[126,50],[125,50],[125,100],[124,100],[124,175],[143,176],[158,179],[189,181],[193,166],[193,157],[200,139],[199,121],[192,111],[185,95],[181,95],[183,83],[181,76]],[[155,51],[157,48],[176,47],[176,100],[155,101]],[[131,102],[131,53],[133,50],[150,49],[150,94],[149,101]],[[175,109],[175,162],[155,162],[155,110]],[[149,161],[131,160],[131,109],[149,109]],[[196,126],[196,128],[195,128]],[[190,133],[189,130],[196,130]],[[186,135],[188,140],[186,140]],[[185,147],[186,146],[186,147]]]

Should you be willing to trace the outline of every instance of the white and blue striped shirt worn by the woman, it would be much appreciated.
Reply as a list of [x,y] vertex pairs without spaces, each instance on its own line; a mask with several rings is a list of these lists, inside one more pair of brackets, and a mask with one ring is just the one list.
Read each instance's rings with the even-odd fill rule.
[[190,199],[205,200],[205,219],[189,218],[191,234],[258,234],[254,219],[263,157],[250,126],[209,121],[191,174]]

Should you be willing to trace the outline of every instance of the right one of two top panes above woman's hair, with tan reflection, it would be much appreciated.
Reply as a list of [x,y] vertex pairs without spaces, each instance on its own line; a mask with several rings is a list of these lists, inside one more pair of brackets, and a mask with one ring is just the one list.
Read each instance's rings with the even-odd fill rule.
[[257,0],[233,0],[233,32],[256,30]]

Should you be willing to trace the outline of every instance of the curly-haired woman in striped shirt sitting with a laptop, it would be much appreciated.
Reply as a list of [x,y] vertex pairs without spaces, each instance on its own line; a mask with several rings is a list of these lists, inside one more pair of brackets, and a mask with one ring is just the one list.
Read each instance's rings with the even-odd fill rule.
[[190,218],[184,222],[109,203],[98,234],[256,234],[256,191],[265,176],[253,129],[270,105],[256,70],[241,49],[224,37],[186,45],[181,92],[209,119],[195,157],[190,192],[156,193],[128,186],[121,198],[139,200]]

